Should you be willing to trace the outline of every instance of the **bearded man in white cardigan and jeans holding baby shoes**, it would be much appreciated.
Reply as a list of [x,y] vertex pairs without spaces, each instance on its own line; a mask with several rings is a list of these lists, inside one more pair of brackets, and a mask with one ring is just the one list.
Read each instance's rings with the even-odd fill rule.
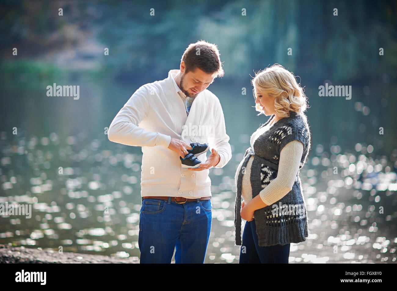
[[[204,262],[212,223],[209,169],[231,159],[222,107],[206,89],[223,75],[214,44],[190,44],[180,69],[139,87],[110,124],[110,141],[142,147],[141,263],[170,263],[174,249],[176,263]],[[180,159],[193,156],[191,143],[212,148],[208,159],[198,155],[196,168]]]

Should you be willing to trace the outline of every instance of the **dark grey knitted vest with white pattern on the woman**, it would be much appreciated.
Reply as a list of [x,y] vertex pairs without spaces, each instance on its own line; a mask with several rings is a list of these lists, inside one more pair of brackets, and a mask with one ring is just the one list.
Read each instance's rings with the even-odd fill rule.
[[[253,150],[250,146],[245,151],[243,164],[236,182],[237,193],[234,219],[236,245],[241,245],[241,183],[249,158],[254,156],[250,177],[252,198],[254,198],[277,177],[280,152],[287,143],[293,140],[303,143],[303,154],[297,178],[292,190],[283,198],[272,205],[254,211],[256,234],[258,235],[258,244],[261,247],[304,242],[308,236],[306,204],[303,198],[299,172],[306,163],[310,150],[310,129],[306,115],[303,112],[297,113],[290,110],[289,114],[289,117],[281,118],[270,129],[260,135],[254,142]],[[266,126],[273,117],[274,114],[260,127]]]

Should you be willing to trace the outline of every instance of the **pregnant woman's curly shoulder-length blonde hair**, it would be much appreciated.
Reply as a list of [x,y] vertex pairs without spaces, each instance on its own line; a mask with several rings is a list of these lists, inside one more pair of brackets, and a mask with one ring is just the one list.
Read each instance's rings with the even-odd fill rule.
[[[293,73],[279,64],[274,64],[255,73],[251,83],[254,86],[252,92],[255,99],[255,87],[274,98],[274,108],[279,117],[289,117],[289,110],[301,113],[307,108],[304,89],[297,82]],[[258,115],[264,113],[258,103],[255,104],[255,109],[260,112]]]

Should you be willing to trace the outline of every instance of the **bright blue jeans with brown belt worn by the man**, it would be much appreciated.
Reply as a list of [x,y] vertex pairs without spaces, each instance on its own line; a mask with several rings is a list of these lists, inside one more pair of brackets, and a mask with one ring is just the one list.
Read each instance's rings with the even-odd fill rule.
[[142,263],[204,263],[212,223],[211,200],[178,204],[143,199],[138,245]]

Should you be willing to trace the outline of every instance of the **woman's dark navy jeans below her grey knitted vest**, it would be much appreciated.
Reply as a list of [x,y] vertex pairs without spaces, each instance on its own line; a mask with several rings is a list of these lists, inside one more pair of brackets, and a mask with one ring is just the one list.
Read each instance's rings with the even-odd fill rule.
[[241,242],[239,264],[288,264],[291,243],[260,247],[255,219],[245,223]]

